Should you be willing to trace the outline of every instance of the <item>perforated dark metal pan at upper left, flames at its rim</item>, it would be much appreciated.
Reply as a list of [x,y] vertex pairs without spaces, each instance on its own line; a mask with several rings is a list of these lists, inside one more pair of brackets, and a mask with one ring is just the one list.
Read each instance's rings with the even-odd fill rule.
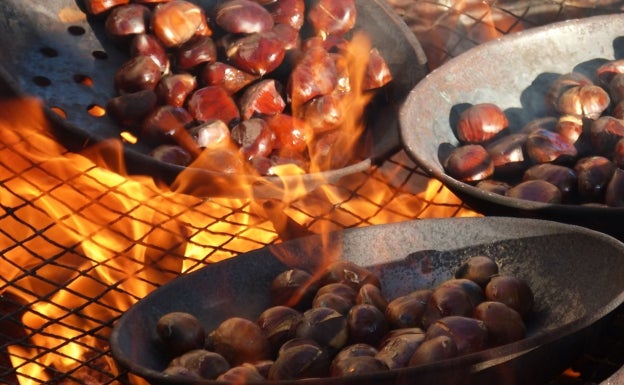
[[[209,10],[217,1],[197,3]],[[383,0],[362,0],[357,1],[357,11],[356,28],[371,37],[395,80],[367,110],[367,130],[362,139],[372,146],[366,146],[362,154],[354,154],[352,164],[306,175],[303,182],[310,189],[324,181],[335,181],[366,170],[398,150],[398,105],[427,72],[426,57],[418,40],[389,5]],[[105,37],[103,24],[102,17],[87,17],[80,0],[6,0],[0,3],[0,49],[3,52],[0,76],[14,92],[38,96],[47,107],[64,111],[65,119],[56,113],[49,116],[56,123],[59,138],[72,150],[120,137],[120,127],[111,118],[89,113],[93,106],[106,106],[115,95],[113,74],[128,60],[127,55]],[[90,80],[85,82],[85,79]],[[130,173],[152,175],[169,183],[185,170],[155,161],[146,155],[149,151],[149,146],[142,143],[124,143]],[[242,177],[205,170],[191,170],[189,174],[190,178],[201,179],[205,186],[191,191],[196,194],[236,195],[246,191],[235,187],[249,185],[241,183]],[[253,179],[257,180],[251,183],[280,185],[276,178]],[[275,194],[268,190],[265,193]]]

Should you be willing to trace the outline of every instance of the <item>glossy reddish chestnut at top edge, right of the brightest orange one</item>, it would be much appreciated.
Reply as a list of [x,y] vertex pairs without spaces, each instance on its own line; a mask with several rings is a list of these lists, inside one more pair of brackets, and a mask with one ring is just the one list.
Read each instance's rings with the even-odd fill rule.
[[262,5],[250,0],[227,0],[216,8],[215,22],[234,34],[266,32],[273,28],[273,17]]

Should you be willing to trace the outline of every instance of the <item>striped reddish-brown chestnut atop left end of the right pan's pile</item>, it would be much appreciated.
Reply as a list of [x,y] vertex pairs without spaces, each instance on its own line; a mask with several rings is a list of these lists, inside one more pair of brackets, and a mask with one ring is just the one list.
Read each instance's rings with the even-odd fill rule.
[[507,115],[496,104],[475,104],[460,113],[457,120],[457,139],[462,143],[483,143],[508,126]]

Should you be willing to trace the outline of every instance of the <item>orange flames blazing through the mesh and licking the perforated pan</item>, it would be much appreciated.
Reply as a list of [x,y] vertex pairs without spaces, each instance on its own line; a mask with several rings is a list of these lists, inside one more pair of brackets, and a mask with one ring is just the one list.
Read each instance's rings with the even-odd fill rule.
[[[364,41],[353,47],[353,62],[369,49]],[[340,138],[346,153],[357,144],[366,102],[356,97],[342,107],[358,112]],[[402,153],[312,191],[296,177],[303,170],[275,167],[283,177],[281,187],[272,186],[279,199],[258,195],[258,178],[242,176],[219,186],[236,192],[232,197],[208,197],[192,168],[172,186],[128,175],[121,140],[72,153],[55,140],[39,100],[0,103],[0,293],[25,304],[12,316],[27,337],[8,347],[21,385],[59,373],[67,383],[110,381],[117,374],[106,354],[114,320],[158,286],[207,264],[310,233],[475,215],[414,172]]]

